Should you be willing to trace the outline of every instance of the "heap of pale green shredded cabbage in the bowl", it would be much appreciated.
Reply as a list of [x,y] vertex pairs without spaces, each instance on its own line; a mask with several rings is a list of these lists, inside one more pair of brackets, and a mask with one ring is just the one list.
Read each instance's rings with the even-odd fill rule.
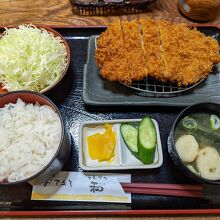
[[33,25],[5,29],[0,39],[0,83],[8,91],[40,92],[56,82],[67,66],[60,37]]

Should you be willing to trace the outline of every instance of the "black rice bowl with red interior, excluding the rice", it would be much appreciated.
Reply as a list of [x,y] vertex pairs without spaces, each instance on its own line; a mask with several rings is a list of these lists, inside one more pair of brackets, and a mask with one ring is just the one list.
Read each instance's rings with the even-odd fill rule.
[[51,156],[51,160],[45,164],[41,170],[37,170],[36,173],[33,173],[32,176],[26,179],[17,182],[4,181],[0,182],[0,185],[15,185],[25,182],[28,182],[32,185],[43,183],[44,181],[47,181],[55,176],[63,168],[64,163],[67,161],[70,154],[69,136],[65,129],[60,111],[56,105],[49,98],[40,93],[31,91],[15,91],[0,96],[0,108],[3,108],[9,103],[16,103],[18,98],[22,99],[25,103],[35,104],[38,102],[40,105],[50,106],[59,116],[61,123],[61,138],[59,143],[57,143],[57,149],[54,155]]

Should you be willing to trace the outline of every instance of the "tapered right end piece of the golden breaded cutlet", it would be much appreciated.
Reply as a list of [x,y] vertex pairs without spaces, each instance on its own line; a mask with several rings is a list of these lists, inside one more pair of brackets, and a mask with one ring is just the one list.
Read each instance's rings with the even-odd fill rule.
[[173,30],[177,33],[178,53],[185,67],[181,83],[196,83],[211,73],[215,58],[219,57],[218,42],[185,25],[174,25]]

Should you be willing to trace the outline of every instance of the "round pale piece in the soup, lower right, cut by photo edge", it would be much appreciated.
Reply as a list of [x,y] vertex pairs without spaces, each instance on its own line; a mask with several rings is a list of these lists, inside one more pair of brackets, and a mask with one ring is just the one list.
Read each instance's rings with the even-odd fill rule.
[[196,166],[201,176],[209,180],[220,179],[220,156],[213,147],[205,147],[199,151]]

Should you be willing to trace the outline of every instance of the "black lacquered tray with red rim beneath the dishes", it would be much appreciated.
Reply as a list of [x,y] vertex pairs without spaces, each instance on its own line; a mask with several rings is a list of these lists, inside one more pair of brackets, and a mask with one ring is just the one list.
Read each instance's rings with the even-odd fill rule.
[[[78,163],[78,129],[79,125],[88,120],[136,119],[150,115],[159,123],[163,147],[164,163],[154,170],[127,170],[119,173],[131,173],[133,182],[159,183],[193,183],[174,167],[167,152],[167,137],[170,128],[182,108],[169,107],[91,107],[82,99],[83,68],[87,59],[87,44],[89,36],[100,34],[103,29],[57,29],[68,41],[71,48],[71,65],[69,72],[56,90],[48,96],[53,99],[62,114],[65,124],[71,134],[72,151],[63,170],[82,171]],[[92,85],[91,85],[92,86]],[[0,187],[0,211],[12,213],[31,213],[31,211],[62,211],[63,213],[100,214],[157,214],[170,213],[220,213],[220,204],[213,201],[196,198],[178,198],[168,196],[132,195],[132,204],[91,203],[91,202],[49,202],[31,201],[31,186]],[[124,210],[124,211],[122,211]],[[142,210],[142,211],[141,211]],[[149,211],[151,210],[151,211]],[[165,210],[165,211],[161,211]],[[10,212],[8,212],[10,211]],[[71,211],[71,212],[68,212]],[[149,211],[149,212],[148,212]],[[36,212],[35,212],[36,213]],[[58,212],[57,212],[58,213]],[[104,214],[104,213],[103,213]]]

